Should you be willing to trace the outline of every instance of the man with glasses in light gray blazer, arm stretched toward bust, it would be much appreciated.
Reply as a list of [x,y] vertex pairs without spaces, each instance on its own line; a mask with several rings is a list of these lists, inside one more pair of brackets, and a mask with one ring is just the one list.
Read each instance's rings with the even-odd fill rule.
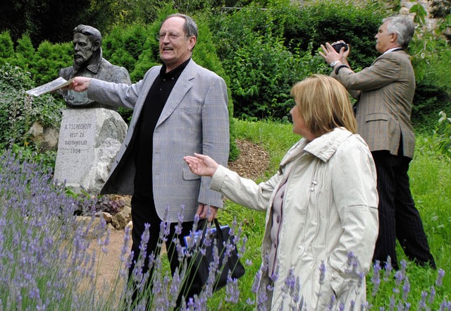
[[[221,194],[209,190],[211,178],[199,178],[183,161],[187,154],[209,154],[227,165],[229,151],[226,83],[192,61],[197,25],[189,16],[168,16],[159,31],[163,66],[150,68],[139,82],[126,85],[75,78],[69,87],[97,102],[134,109],[125,141],[101,193],[132,195],[132,251],[140,254],[145,224],[150,224],[147,255],[159,254],[162,220],[171,222],[166,242],[171,269],[178,267],[172,237],[182,221],[180,243],[192,230],[194,215],[216,217]],[[144,264],[147,271],[148,257]],[[143,273],[144,273],[143,272]],[[184,292],[192,297],[199,289]]]

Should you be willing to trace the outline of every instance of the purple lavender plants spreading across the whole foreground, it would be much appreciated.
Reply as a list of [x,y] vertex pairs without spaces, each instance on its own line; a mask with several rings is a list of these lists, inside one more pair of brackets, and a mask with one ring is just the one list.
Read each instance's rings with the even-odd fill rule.
[[[39,166],[11,161],[5,156],[0,157],[0,311],[1,310],[58,310],[58,307],[65,310],[85,310],[86,303],[92,310],[111,310],[109,307],[99,307],[99,298],[94,295],[95,267],[97,253],[107,252],[109,246],[109,231],[105,228],[105,223],[100,219],[100,223],[95,220],[94,214],[86,219],[84,223],[75,222],[74,210],[79,205],[87,205],[83,210],[94,211],[92,198],[80,202],[73,198],[66,197],[64,188],[51,183],[51,175],[44,174],[40,176]],[[10,189],[13,189],[11,191]],[[7,207],[7,208],[5,208]],[[182,207],[183,209],[184,207]],[[180,227],[175,227],[175,234],[181,233],[181,224],[183,223],[183,213],[179,214]],[[99,220],[99,219],[97,219]],[[199,221],[199,219],[197,219]],[[234,221],[235,224],[235,221]],[[11,230],[10,228],[14,228]],[[8,230],[9,229],[9,230]],[[161,244],[169,237],[168,223],[161,224]],[[231,229],[234,234],[233,240],[223,245],[224,255],[237,250],[240,257],[245,252],[247,237],[242,236],[242,228],[233,225]],[[105,235],[106,234],[106,235]],[[120,276],[125,279],[130,267],[132,255],[127,255],[127,244],[130,240],[130,229],[125,228],[124,245],[121,248],[121,270]],[[211,231],[208,231],[204,240],[206,245],[211,244]],[[170,237],[173,239],[173,237]],[[90,240],[97,240],[99,249],[90,252],[88,245]],[[147,237],[144,236],[143,240]],[[165,240],[166,239],[166,240]],[[175,244],[178,253],[178,260],[181,263],[180,270],[177,270],[172,278],[165,274],[161,257],[154,253],[149,254],[148,267],[154,268],[154,274],[143,273],[143,264],[147,262],[145,258],[140,258],[135,262],[135,281],[137,288],[140,289],[139,298],[132,305],[132,291],[130,286],[124,286],[122,290],[116,291],[117,296],[121,295],[123,303],[119,307],[121,310],[171,310],[175,307],[175,300],[179,291],[183,288],[183,283],[187,281],[187,272],[190,267],[187,259],[190,258],[190,252],[185,252],[182,245],[175,238]],[[64,241],[64,243],[61,243]],[[241,243],[241,245],[237,245]],[[18,246],[12,250],[11,245]],[[66,247],[67,246],[67,247]],[[147,253],[147,243],[142,245],[142,254]],[[219,248],[220,250],[222,248]],[[99,251],[101,250],[101,252]],[[202,250],[199,250],[202,253]],[[218,252],[218,250],[216,250]],[[219,254],[215,255],[215,260],[211,264],[211,278],[202,293],[195,296],[190,302],[181,308],[181,310],[206,310],[206,301],[211,297],[215,285],[216,277],[221,269],[221,262],[218,262]],[[246,264],[252,264],[252,258],[246,260]],[[247,300],[242,299],[243,303],[254,305],[257,310],[268,310],[271,299],[271,291],[274,289],[274,281],[278,280],[278,267],[268,282],[267,267],[268,261],[263,261],[261,269],[256,275],[252,291],[257,293],[258,285],[261,282],[257,295]],[[357,258],[350,254],[348,256],[347,272],[358,277],[357,281],[363,286],[364,274],[358,271]],[[15,266],[16,265],[16,266]],[[21,269],[17,269],[20,265]],[[397,293],[400,293],[402,286],[402,295],[392,295],[390,305],[387,309],[394,310],[397,306],[400,310],[409,310],[414,305],[412,294],[410,294],[411,284],[407,278],[407,268],[409,265],[405,261],[400,262],[400,272],[395,274],[395,286]],[[167,269],[166,269],[167,270]],[[11,274],[14,271],[15,274]],[[384,279],[393,282],[391,276],[390,258],[385,265]],[[292,273],[293,274],[293,273]],[[326,264],[320,265],[320,283],[325,282]],[[264,275],[264,277],[262,277]],[[421,300],[418,303],[419,310],[438,309],[438,301],[434,305],[435,287],[443,288],[443,277],[445,271],[438,269],[438,276],[434,286],[429,291],[421,292]],[[373,266],[373,297],[381,292],[381,266],[378,262]],[[290,275],[284,280],[286,294],[291,298],[290,310],[304,310],[304,303],[300,297],[299,277]],[[79,284],[84,283],[84,287]],[[152,283],[152,289],[149,289],[149,283]],[[86,293],[83,293],[83,292]],[[122,293],[121,293],[122,291]],[[8,293],[8,297],[1,293]],[[240,301],[240,291],[238,282],[230,274],[228,284],[223,290],[227,303],[237,303]],[[82,295],[86,296],[82,296]],[[443,299],[443,290],[438,291],[437,295]],[[399,301],[402,298],[402,301]],[[66,301],[70,299],[70,301]],[[376,301],[380,298],[376,298]],[[335,301],[335,304],[337,302]],[[385,303],[385,302],[384,302]],[[28,304],[28,305],[26,305]],[[388,304],[388,303],[387,303]],[[412,305],[411,305],[412,304]],[[224,306],[223,308],[228,308]],[[285,306],[286,307],[286,306]],[[330,307],[332,307],[330,305]],[[335,305],[334,305],[335,307]],[[346,306],[347,307],[347,306]],[[338,303],[339,310],[346,310],[342,302]],[[371,306],[364,303],[360,306],[361,310],[369,310]],[[440,310],[450,310],[451,304],[446,299],[440,304]],[[350,305],[351,311],[354,309],[353,302]],[[378,310],[385,310],[384,307],[377,307]],[[61,309],[62,310],[62,309]],[[231,308],[233,310],[233,307]],[[289,310],[286,309],[285,310]],[[372,310],[372,309],[371,309]]]

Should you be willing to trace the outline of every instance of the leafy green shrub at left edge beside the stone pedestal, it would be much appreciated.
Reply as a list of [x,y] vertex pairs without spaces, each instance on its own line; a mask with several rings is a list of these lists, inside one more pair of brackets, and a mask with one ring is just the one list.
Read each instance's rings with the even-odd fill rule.
[[[63,105],[49,94],[30,97],[25,90],[35,87],[30,73],[10,64],[0,67],[0,148],[28,146],[27,131],[33,122],[58,126]],[[32,150],[35,147],[32,146]]]

